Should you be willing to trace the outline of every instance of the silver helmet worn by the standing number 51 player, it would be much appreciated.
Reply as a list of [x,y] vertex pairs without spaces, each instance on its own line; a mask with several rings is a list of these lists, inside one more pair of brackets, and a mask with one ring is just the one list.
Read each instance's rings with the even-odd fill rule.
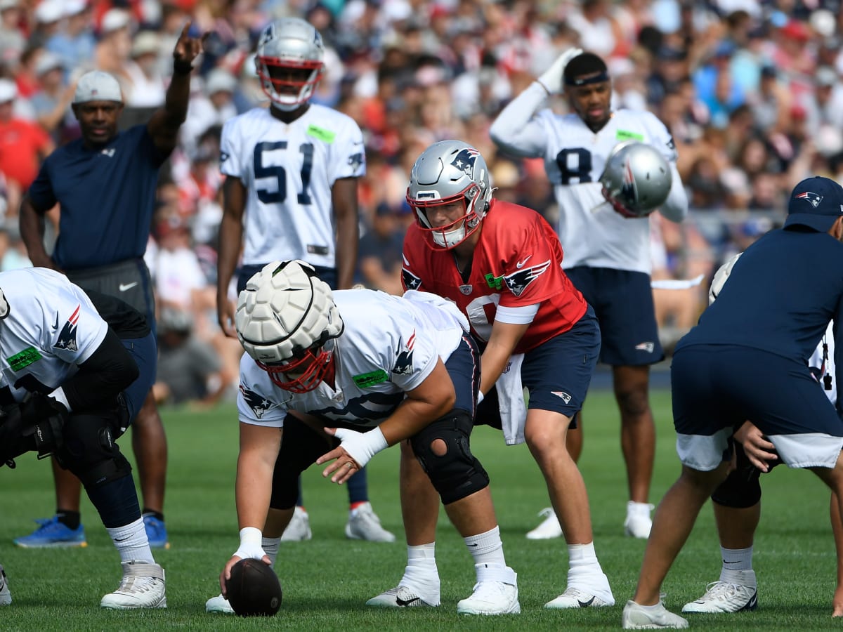
[[255,68],[273,106],[291,111],[307,102],[325,72],[324,56],[322,36],[303,19],[267,24],[258,39]]

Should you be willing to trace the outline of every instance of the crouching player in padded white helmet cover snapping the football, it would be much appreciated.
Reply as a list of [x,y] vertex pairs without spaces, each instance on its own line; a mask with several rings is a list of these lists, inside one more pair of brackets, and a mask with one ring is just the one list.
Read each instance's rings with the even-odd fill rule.
[[323,474],[342,484],[375,453],[409,440],[475,561],[474,592],[457,612],[520,612],[489,477],[470,451],[480,358],[459,311],[425,292],[331,292],[296,260],[250,279],[235,325],[246,351],[237,400],[240,546],[220,574],[223,595],[238,560],[273,561],[261,528],[270,509],[289,521],[304,469],[330,461]]

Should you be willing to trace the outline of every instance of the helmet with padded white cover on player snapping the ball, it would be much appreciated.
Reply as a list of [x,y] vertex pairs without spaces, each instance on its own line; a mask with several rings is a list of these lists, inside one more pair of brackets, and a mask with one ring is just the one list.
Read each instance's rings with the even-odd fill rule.
[[274,261],[246,283],[234,315],[237,337],[272,382],[293,393],[328,374],[343,323],[330,287],[304,261]]

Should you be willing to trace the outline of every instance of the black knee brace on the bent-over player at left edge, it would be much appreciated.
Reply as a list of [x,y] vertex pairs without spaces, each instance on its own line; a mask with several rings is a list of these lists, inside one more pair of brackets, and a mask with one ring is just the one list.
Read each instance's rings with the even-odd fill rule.
[[132,474],[132,466],[114,442],[120,432],[117,426],[119,420],[111,411],[70,415],[67,420],[64,445],[56,458],[86,489]]

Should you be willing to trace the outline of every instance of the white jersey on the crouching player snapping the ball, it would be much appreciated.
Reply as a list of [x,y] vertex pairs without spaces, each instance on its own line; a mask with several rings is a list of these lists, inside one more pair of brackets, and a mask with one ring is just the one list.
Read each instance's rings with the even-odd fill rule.
[[320,383],[293,394],[271,382],[248,354],[240,360],[239,420],[284,426],[287,410],[373,427],[427,378],[438,358],[454,352],[468,321],[442,297],[406,292],[395,297],[373,290],[338,290],[334,301],[345,329],[335,340],[335,387]]

